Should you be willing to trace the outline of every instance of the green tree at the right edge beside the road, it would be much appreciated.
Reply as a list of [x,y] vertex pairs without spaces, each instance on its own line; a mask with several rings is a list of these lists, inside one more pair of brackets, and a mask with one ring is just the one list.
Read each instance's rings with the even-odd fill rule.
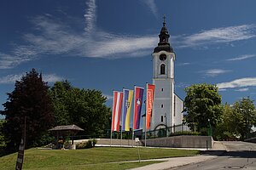
[[256,112],[253,100],[249,97],[236,101],[233,105],[233,116],[235,128],[232,131],[241,135],[241,140],[248,138],[253,125],[256,122]]

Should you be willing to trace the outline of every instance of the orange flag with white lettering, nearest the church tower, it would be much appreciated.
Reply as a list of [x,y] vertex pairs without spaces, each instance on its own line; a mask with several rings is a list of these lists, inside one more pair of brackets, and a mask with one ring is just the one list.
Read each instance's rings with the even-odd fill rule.
[[154,102],[154,85],[147,84],[147,110],[146,110],[146,127],[150,127],[150,119],[152,115],[152,107]]

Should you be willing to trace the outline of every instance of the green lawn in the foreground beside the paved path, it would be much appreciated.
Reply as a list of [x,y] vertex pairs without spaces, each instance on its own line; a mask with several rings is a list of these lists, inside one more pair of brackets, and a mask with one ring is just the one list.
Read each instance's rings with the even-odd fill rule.
[[[140,148],[141,159],[165,158],[173,156],[194,156],[198,150],[172,150],[160,148]],[[0,169],[15,168],[17,153],[0,157]],[[137,160],[137,148],[96,147],[84,150],[25,150],[23,169],[127,169],[141,167],[155,161],[117,162]]]

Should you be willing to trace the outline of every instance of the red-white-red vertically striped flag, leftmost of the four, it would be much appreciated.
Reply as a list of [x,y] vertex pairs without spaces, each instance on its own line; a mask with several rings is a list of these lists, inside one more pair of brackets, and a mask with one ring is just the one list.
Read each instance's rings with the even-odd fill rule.
[[119,131],[123,92],[113,91],[112,131]]

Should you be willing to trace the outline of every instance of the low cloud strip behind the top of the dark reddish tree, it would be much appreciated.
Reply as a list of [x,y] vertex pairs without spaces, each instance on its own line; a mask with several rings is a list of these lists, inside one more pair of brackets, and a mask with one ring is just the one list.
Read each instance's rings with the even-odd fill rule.
[[[6,77],[0,77],[0,84],[12,84],[16,81],[20,81],[21,77],[24,77],[26,74],[16,74],[16,75],[8,75]],[[44,82],[56,82],[63,80],[62,77],[58,77],[55,74],[43,75]]]

